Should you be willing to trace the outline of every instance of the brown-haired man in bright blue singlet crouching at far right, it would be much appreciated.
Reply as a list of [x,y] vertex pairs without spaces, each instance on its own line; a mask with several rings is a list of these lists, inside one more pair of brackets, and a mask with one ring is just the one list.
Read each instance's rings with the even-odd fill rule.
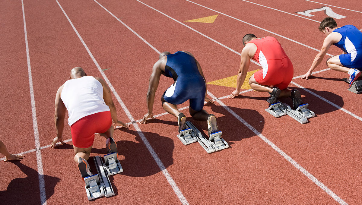
[[357,80],[362,71],[362,33],[355,26],[345,25],[337,27],[333,18],[324,18],[318,28],[327,37],[324,39],[323,46],[319,54],[313,60],[309,71],[301,78],[308,79],[313,70],[323,60],[325,54],[331,45],[341,48],[341,55],[330,57],[327,60],[328,68],[334,71],[340,71],[349,74],[349,86]]

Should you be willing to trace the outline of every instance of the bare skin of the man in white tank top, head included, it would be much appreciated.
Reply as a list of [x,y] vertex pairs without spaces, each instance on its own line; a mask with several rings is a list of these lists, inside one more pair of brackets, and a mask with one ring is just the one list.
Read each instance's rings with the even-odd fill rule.
[[[84,72],[84,70],[80,67],[76,67],[73,68],[71,70],[71,75],[70,75],[70,79],[76,79],[76,78],[81,78],[83,76],[87,76],[87,74]],[[108,131],[106,131],[105,133],[100,133],[101,136],[104,136],[106,138],[112,137],[113,136],[113,131],[114,128],[116,126],[121,126],[121,127],[129,127],[129,125],[126,125],[124,123],[122,123],[121,121],[117,120],[117,112],[112,100],[112,96],[111,96],[111,91],[108,87],[108,85],[106,84],[106,82],[104,82],[104,80],[102,78],[98,78],[98,77],[94,77],[96,78],[96,80],[98,80],[103,87],[103,99],[104,102],[106,103],[106,105],[109,107],[110,112],[111,112],[111,118],[113,121],[113,126],[111,126]],[[56,142],[65,144],[65,142],[63,142],[63,128],[64,128],[64,118],[65,118],[65,114],[66,114],[66,106],[64,105],[62,99],[60,98],[60,94],[62,93],[64,84],[62,86],[59,87],[58,91],[56,92],[56,96],[55,96],[55,114],[54,114],[54,123],[55,123],[55,129],[56,129],[56,137],[54,138],[53,142],[50,144],[51,148],[55,148],[55,144]],[[89,148],[77,148],[76,146],[73,146],[74,148],[74,152],[75,152],[75,157],[74,157],[74,161],[77,162],[79,157],[84,158],[85,160],[88,160],[89,158],[89,154],[90,154],[90,150],[92,149],[92,146],[90,146]]]

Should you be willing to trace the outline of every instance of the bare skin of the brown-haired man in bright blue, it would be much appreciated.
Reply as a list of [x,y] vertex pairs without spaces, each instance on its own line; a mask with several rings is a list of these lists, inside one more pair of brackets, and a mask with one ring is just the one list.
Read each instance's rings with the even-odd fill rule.
[[[304,76],[300,77],[301,79],[306,78],[306,80],[308,80],[308,77],[312,76],[313,70],[321,63],[321,61],[323,60],[323,57],[325,56],[325,54],[327,54],[331,45],[333,43],[338,43],[341,40],[342,35],[340,33],[333,32],[334,29],[338,29],[338,28],[339,27],[334,27],[333,29],[331,29],[330,27],[324,28],[324,30],[322,32],[327,37],[325,37],[325,39],[323,41],[323,46],[322,46],[320,52],[314,58],[310,69],[308,70],[308,72],[306,74],[304,74]],[[342,54],[346,54],[346,53],[342,52]],[[331,68],[335,71],[340,71],[340,72],[344,72],[344,73],[348,73],[348,71],[350,70],[350,68],[346,68],[341,64],[341,61],[339,60],[339,55],[329,58],[327,60],[327,65],[329,68]]]

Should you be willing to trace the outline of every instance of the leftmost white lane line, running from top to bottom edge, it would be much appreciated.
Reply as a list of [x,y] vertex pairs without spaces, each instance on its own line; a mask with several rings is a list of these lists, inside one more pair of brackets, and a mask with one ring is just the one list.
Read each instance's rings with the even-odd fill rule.
[[[29,75],[29,89],[30,89],[30,99],[31,99],[31,114],[33,118],[33,129],[34,129],[34,138],[35,138],[35,147],[40,147],[39,142],[39,131],[38,131],[38,121],[37,113],[35,109],[35,98],[34,98],[34,88],[33,88],[33,77],[31,76],[31,66],[30,66],[30,55],[29,55],[29,44],[28,44],[28,34],[26,33],[26,23],[25,23],[25,11],[24,11],[24,1],[21,0],[21,7],[23,12],[23,21],[24,21],[24,35],[25,35],[25,47],[26,47],[26,59],[28,62],[28,75]],[[39,191],[40,191],[40,202],[42,205],[46,205],[46,192],[45,192],[45,181],[44,181],[44,172],[43,172],[43,161],[42,153],[40,150],[36,151],[37,155],[37,165],[38,165],[38,179],[39,179]]]

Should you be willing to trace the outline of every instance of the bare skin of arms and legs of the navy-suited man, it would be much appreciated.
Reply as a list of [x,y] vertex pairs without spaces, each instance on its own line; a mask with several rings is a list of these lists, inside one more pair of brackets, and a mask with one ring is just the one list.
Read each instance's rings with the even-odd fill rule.
[[[193,56],[190,52],[188,51],[182,51],[182,52],[185,52],[191,56]],[[170,54],[168,52],[168,54]],[[161,54],[162,55],[162,54]],[[193,56],[194,57],[194,56]],[[148,112],[147,114],[145,114],[143,116],[143,119],[142,121],[140,122],[140,124],[146,124],[146,121],[148,118],[151,118],[151,119],[155,119],[153,117],[153,103],[155,102],[155,93],[156,93],[156,90],[157,90],[157,87],[159,85],[159,82],[160,82],[160,76],[161,74],[164,74],[165,73],[165,66],[166,66],[166,63],[167,63],[167,56],[166,55],[163,55],[154,65],[153,65],[153,68],[152,68],[152,74],[150,76],[150,80],[149,80],[149,85],[148,85],[148,92],[147,92],[147,108],[148,108]],[[204,78],[205,80],[205,77],[202,73],[202,69],[201,69],[201,66],[199,64],[199,62],[196,60],[196,63],[197,63],[197,68],[201,74],[201,76]],[[206,80],[205,80],[206,82]],[[207,94],[207,87],[206,87],[206,94]],[[206,94],[205,94],[205,101],[206,102],[211,102],[211,103],[214,103],[213,100],[210,100],[209,98],[206,97]],[[163,101],[164,102],[164,101]],[[176,105],[173,105],[171,103],[167,103],[167,102],[164,102],[163,103],[163,108],[171,113],[172,115],[174,116],[178,116],[178,114],[180,113],[178,110],[177,110],[177,106]],[[197,111],[193,111],[191,108],[189,108],[190,110],[190,114],[191,116],[193,116],[194,119],[200,119],[200,120],[204,120],[204,115],[202,116],[199,116]],[[200,112],[200,111],[198,111]],[[205,111],[206,112],[206,111]],[[201,113],[200,113],[201,114]],[[208,115],[207,115],[208,116]],[[207,119],[206,119],[207,120]],[[205,120],[205,121],[206,121]]]

